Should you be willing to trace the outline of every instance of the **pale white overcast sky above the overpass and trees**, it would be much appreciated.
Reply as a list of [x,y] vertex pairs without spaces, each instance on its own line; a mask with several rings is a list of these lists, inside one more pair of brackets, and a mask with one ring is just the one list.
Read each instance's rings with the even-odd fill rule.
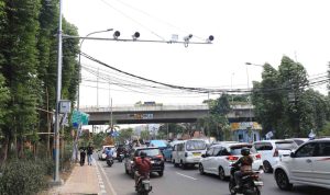
[[[85,39],[81,51],[151,80],[218,89],[251,88],[252,80],[261,81],[262,68],[245,62],[277,68],[284,55],[302,64],[310,77],[324,73],[330,61],[329,8],[327,0],[63,0],[64,16],[80,36],[107,28],[120,31],[120,38],[140,32],[140,39],[148,41],[169,41],[174,34],[183,41],[193,34],[191,42],[205,42],[213,35],[212,44],[188,47]],[[80,107],[109,106],[111,100],[116,106],[139,101],[200,104],[208,99],[208,94],[120,85],[130,78],[84,57],[81,65]],[[326,85],[316,89],[324,92]]]

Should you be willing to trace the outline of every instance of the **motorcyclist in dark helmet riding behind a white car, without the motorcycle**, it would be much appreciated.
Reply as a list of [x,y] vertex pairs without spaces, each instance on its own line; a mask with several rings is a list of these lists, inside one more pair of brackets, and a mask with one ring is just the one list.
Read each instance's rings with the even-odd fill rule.
[[244,147],[241,149],[241,157],[232,167],[240,167],[239,171],[235,171],[234,179],[237,182],[235,188],[242,187],[242,176],[252,173],[253,158],[250,156],[250,149]]

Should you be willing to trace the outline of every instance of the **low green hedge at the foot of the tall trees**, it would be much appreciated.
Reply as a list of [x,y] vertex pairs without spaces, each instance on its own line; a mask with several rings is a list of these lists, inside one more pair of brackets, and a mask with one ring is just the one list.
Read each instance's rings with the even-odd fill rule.
[[2,169],[0,195],[32,195],[45,187],[45,167],[36,161],[13,160]]

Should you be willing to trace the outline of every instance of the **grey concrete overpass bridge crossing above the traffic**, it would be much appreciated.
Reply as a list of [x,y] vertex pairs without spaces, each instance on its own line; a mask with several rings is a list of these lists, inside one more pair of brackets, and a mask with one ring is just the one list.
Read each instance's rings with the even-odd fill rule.
[[[84,107],[89,114],[89,125],[109,124],[111,115],[116,124],[158,124],[158,123],[195,123],[208,116],[207,104],[195,105],[129,105],[112,107]],[[228,114],[230,122],[249,122],[253,119],[252,105],[233,105]]]

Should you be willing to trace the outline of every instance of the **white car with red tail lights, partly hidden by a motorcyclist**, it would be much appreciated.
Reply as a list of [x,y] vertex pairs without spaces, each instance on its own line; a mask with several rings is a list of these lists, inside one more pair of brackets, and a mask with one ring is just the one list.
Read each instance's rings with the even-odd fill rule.
[[226,177],[230,176],[231,164],[242,157],[241,149],[244,147],[251,148],[250,151],[253,157],[252,169],[254,171],[262,169],[261,154],[255,152],[251,144],[221,142],[211,146],[206,154],[202,156],[199,162],[200,174],[211,173],[219,175],[220,180],[226,180]]

